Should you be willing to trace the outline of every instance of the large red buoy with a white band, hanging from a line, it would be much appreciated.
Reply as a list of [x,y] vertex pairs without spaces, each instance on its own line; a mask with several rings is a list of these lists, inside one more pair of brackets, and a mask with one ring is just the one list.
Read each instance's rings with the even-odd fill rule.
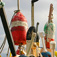
[[25,16],[19,11],[11,20],[11,33],[15,45],[26,44],[26,33],[28,30],[28,24]]

